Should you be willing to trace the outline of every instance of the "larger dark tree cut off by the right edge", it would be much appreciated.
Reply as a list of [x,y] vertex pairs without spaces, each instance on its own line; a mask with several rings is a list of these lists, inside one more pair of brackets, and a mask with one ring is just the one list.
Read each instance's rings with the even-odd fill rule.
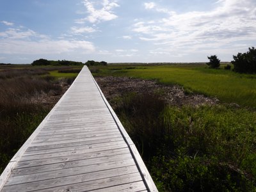
[[234,65],[234,71],[246,74],[256,73],[256,49],[254,47],[249,47],[249,51],[243,54],[239,52],[233,58],[234,61],[231,61],[231,63]]

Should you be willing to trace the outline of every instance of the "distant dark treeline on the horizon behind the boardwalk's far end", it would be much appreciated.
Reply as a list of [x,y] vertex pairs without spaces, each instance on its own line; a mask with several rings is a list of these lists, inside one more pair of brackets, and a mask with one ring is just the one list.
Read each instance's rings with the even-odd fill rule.
[[67,60],[58,60],[58,61],[51,61],[51,60],[35,60],[33,63],[31,63],[33,66],[42,66],[42,65],[54,65],[54,66],[68,66],[68,65],[87,65],[87,66],[93,66],[93,65],[108,65],[106,61],[93,61],[88,60],[85,63],[78,62],[78,61],[67,61]]

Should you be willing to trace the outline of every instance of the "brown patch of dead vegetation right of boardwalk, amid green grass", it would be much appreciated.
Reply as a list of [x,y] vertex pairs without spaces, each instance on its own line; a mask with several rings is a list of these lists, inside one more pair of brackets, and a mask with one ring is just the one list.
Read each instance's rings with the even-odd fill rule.
[[168,104],[173,106],[214,105],[219,102],[216,98],[209,98],[195,93],[186,94],[180,86],[166,86],[156,81],[134,79],[131,77],[95,77],[95,80],[108,100],[135,92],[159,93]]

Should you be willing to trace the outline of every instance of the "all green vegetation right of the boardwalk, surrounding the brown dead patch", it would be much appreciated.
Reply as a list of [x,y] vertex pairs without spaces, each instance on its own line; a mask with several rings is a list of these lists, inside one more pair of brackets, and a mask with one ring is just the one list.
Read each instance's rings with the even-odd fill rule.
[[[203,65],[110,66],[95,76],[179,84],[218,97],[213,106],[170,106],[161,93],[125,93],[115,111],[159,191],[256,191],[255,75]],[[235,102],[235,104],[231,104]]]

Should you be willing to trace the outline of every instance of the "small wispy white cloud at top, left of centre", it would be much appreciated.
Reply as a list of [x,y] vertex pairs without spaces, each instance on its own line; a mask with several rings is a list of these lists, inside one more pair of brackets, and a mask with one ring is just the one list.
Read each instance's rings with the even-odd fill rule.
[[88,17],[84,19],[77,20],[77,23],[83,23],[85,20],[88,20],[92,23],[97,23],[101,21],[108,21],[116,19],[118,16],[113,13],[113,9],[118,7],[116,0],[103,0],[101,3],[101,8],[95,8],[95,2],[84,0],[84,6],[86,7],[87,12],[89,13]]

